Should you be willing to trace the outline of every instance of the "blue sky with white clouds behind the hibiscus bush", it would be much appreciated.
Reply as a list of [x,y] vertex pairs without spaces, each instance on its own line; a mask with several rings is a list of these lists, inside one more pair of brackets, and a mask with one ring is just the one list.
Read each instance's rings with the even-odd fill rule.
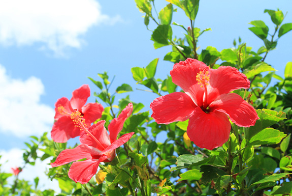
[[[157,11],[168,4],[155,2]],[[288,12],[283,23],[292,22],[290,0],[201,1],[195,25],[201,29],[211,27],[212,31],[204,33],[198,45],[221,51],[233,47],[233,40],[240,36],[256,51],[263,43],[248,30],[248,23],[263,20],[273,31],[274,24],[264,10],[277,8],[284,14]],[[17,166],[20,149],[25,148],[23,143],[29,135],[50,131],[58,98],[70,99],[72,91],[84,83],[89,84],[91,94],[99,91],[87,77],[99,79],[97,73],[104,71],[110,78],[115,76],[112,93],[121,83],[142,88],[136,85],[131,68],[145,67],[155,58],[160,59],[157,77],[169,75],[173,64],[163,58],[171,48],[153,48],[143,15],[134,0],[0,0],[0,155],[2,159],[10,157],[7,168]],[[189,25],[179,9],[173,21]],[[150,29],[154,28],[150,21]],[[183,36],[179,27],[173,27],[173,32]],[[289,32],[268,54],[267,63],[279,75],[292,61],[291,45]],[[144,103],[145,110],[156,98],[136,90],[129,95],[133,101]],[[118,95],[116,103],[124,96]],[[89,101],[94,99],[91,96]]]

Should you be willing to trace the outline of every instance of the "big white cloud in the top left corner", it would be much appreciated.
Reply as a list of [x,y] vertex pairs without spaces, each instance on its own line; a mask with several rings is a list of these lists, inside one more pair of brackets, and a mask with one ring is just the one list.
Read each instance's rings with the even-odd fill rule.
[[0,44],[41,42],[42,49],[62,55],[68,47],[80,48],[89,27],[117,21],[94,0],[0,0]]

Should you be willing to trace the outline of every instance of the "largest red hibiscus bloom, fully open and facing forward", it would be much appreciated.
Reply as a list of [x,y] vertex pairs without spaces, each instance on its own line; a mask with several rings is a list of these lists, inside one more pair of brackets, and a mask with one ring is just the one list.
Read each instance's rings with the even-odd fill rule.
[[236,68],[210,69],[203,62],[187,59],[170,72],[173,82],[185,93],[175,92],[156,98],[150,108],[158,124],[188,121],[187,135],[200,148],[212,150],[228,141],[231,124],[250,127],[258,116],[241,96],[230,93],[247,89],[250,82]]

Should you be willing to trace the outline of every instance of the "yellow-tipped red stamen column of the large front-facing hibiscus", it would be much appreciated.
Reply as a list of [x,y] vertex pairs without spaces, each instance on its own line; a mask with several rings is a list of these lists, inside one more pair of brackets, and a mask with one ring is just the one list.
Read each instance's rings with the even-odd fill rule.
[[205,111],[206,108],[208,107],[208,100],[207,100],[207,97],[208,97],[208,91],[207,91],[207,86],[209,85],[209,81],[210,81],[210,74],[209,74],[209,71],[208,69],[204,68],[200,68],[200,72],[197,73],[197,76],[196,76],[196,79],[198,81],[198,85],[200,85],[200,87],[202,89],[205,90],[205,96],[204,96],[204,100],[203,100],[203,110]]

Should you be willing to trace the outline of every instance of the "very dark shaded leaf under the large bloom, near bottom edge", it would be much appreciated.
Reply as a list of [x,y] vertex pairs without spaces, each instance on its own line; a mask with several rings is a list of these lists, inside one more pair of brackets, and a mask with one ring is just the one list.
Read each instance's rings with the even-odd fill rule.
[[202,178],[200,179],[200,183],[204,184],[211,182],[213,179],[216,179],[219,176],[226,175],[225,172],[223,172],[223,170],[220,170],[212,165],[202,165],[200,167],[200,171],[203,172]]

